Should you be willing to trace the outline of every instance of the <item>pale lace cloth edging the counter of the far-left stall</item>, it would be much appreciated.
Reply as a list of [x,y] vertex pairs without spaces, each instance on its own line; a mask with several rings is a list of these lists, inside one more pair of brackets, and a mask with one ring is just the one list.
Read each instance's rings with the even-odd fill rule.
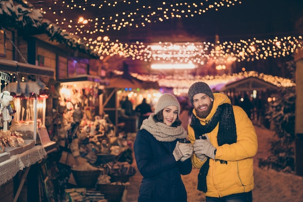
[[0,163],[0,185],[12,179],[18,171],[35,164],[46,157],[46,151],[42,145],[14,156]]

